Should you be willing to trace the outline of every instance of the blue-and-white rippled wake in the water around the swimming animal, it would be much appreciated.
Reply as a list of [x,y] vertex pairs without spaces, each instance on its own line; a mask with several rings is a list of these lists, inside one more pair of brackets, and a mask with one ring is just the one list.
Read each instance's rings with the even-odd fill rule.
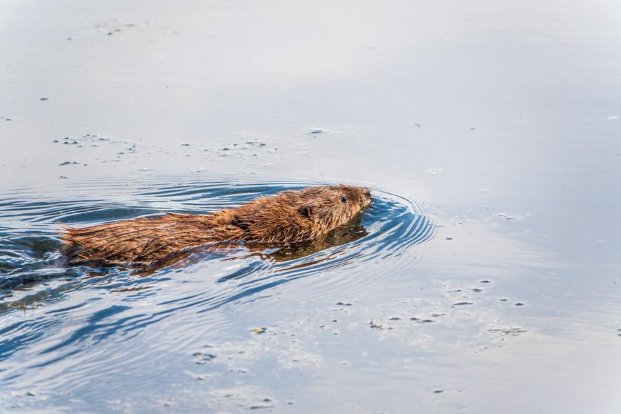
[[[31,368],[48,377],[48,366],[53,377],[58,363],[75,369],[77,382],[81,374],[94,377],[112,367],[89,355],[106,354],[128,335],[166,332],[166,344],[183,344],[196,335],[197,315],[210,320],[210,331],[224,329],[235,322],[213,316],[219,309],[252,313],[257,301],[278,295],[288,282],[312,280],[311,285],[287,285],[297,301],[335,291],[364,292],[386,282],[391,275],[386,270],[398,267],[408,250],[435,233],[420,202],[373,190],[371,207],[318,246],[196,253],[150,272],[66,267],[60,260],[59,222],[86,226],[166,211],[208,213],[259,195],[321,184],[161,177],[12,190],[0,199],[0,361],[5,362],[0,379],[12,382]],[[28,362],[10,363],[15,354]],[[123,358],[118,359],[121,364]]]

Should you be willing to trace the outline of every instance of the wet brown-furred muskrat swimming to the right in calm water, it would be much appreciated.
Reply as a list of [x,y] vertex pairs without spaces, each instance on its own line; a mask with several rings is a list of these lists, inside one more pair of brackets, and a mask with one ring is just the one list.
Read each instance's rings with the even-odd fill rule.
[[175,262],[206,246],[288,246],[312,242],[371,204],[367,188],[318,186],[259,197],[207,215],[167,213],[86,228],[65,226],[69,264],[150,266]]

